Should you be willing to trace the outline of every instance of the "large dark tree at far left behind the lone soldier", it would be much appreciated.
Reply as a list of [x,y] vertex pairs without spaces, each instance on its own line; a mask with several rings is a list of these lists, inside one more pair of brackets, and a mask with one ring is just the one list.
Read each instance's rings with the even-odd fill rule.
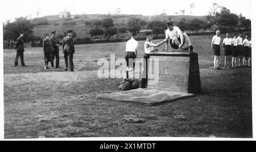
[[16,40],[20,33],[25,32],[24,41],[32,41],[33,35],[33,24],[27,18],[16,18],[13,23],[6,24],[3,33],[4,40]]

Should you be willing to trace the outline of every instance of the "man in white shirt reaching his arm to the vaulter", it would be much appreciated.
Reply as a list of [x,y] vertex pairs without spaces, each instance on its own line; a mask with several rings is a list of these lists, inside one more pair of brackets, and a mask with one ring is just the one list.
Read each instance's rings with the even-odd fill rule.
[[159,47],[160,45],[166,43],[167,40],[163,40],[160,43],[154,44],[152,43],[152,33],[151,32],[147,32],[146,33],[146,41],[144,43],[144,64],[143,64],[143,73],[142,73],[142,81],[141,81],[141,88],[146,88],[147,87],[147,61],[148,58],[150,58],[150,52],[152,52],[152,50],[154,50],[154,47]]

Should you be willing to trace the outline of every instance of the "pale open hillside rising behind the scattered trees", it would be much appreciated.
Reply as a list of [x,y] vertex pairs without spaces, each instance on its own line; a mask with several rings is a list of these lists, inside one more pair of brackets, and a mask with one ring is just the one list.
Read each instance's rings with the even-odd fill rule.
[[[35,25],[34,35],[44,37],[44,33],[57,31],[59,34],[63,34],[68,29],[73,29],[77,33],[76,38],[90,37],[89,31],[95,27],[85,26],[85,22],[93,22],[93,20],[102,20],[105,18],[112,18],[114,27],[121,28],[126,26],[126,22],[129,18],[140,18],[149,22],[150,20],[172,20],[174,23],[185,18],[189,19],[203,19],[207,20],[206,16],[189,16],[189,15],[155,15],[155,16],[143,16],[143,15],[106,15],[106,14],[85,14],[85,15],[72,15],[72,18],[60,19],[59,15],[43,16],[41,18],[31,19],[31,23]],[[73,23],[71,26],[63,26],[63,23]],[[125,35],[120,35],[125,37]],[[92,37],[92,40],[94,37]]]

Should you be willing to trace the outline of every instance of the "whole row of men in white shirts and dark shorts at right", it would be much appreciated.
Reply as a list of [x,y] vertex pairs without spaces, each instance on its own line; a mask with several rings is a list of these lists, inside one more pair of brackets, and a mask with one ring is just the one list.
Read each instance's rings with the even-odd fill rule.
[[[216,35],[212,38],[212,49],[214,54],[214,69],[219,70],[218,57],[220,56],[220,30],[216,31]],[[236,33],[233,39],[230,37],[230,33],[226,33],[226,38],[222,43],[224,47],[224,69],[235,67],[250,67],[251,66],[251,39],[248,33],[245,35],[245,39],[242,40],[242,32]],[[242,64],[241,64],[242,62]]]

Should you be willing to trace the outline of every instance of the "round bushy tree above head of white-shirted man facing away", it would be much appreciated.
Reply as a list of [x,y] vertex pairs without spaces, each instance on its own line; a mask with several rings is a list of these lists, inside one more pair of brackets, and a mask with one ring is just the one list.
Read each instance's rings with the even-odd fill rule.
[[147,22],[140,18],[130,18],[127,22],[127,29],[129,32],[139,32]]

